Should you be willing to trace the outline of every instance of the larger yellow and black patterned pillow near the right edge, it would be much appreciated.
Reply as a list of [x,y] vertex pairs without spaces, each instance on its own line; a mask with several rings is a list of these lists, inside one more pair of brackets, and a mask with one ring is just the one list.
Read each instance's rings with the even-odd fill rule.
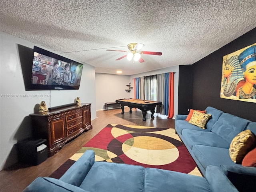
[[234,163],[241,163],[244,156],[255,147],[255,136],[250,130],[240,132],[232,140],[229,155]]

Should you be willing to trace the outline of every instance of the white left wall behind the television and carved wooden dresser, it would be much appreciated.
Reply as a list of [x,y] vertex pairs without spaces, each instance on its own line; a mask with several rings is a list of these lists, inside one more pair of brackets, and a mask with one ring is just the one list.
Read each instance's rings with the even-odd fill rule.
[[[79,96],[81,102],[92,104],[91,117],[94,119],[96,118],[96,96],[95,69],[83,62],[81,62],[84,68],[79,90],[25,91],[18,44],[27,48],[33,48],[36,44],[4,32],[0,33],[0,41],[0,168],[2,170],[17,162],[14,144],[31,137],[31,120],[28,115],[34,112],[36,104],[44,100],[48,107],[59,106],[73,103],[74,99]],[[47,97],[24,97],[25,94],[48,95],[50,93],[51,101]],[[18,97],[7,97],[10,94],[16,94]]]

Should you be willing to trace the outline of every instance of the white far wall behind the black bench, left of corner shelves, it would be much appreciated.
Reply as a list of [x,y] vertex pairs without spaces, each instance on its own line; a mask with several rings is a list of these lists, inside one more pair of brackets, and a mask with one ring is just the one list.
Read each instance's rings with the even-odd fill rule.
[[[120,98],[130,98],[130,94],[125,91],[129,84],[129,76],[96,73],[96,110],[104,109],[104,103],[114,102]],[[112,108],[110,106],[109,108]]]

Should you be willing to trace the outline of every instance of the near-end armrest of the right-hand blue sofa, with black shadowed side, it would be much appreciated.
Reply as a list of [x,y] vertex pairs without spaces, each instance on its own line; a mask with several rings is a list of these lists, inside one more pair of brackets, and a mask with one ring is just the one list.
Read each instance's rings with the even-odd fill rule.
[[244,167],[240,164],[221,165],[220,169],[240,192],[255,192],[256,168]]

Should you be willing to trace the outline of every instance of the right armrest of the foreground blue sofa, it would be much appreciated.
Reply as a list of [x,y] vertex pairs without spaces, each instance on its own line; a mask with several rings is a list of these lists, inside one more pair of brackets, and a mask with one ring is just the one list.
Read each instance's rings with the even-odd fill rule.
[[212,192],[238,192],[236,187],[217,166],[209,165],[206,168],[205,178]]

